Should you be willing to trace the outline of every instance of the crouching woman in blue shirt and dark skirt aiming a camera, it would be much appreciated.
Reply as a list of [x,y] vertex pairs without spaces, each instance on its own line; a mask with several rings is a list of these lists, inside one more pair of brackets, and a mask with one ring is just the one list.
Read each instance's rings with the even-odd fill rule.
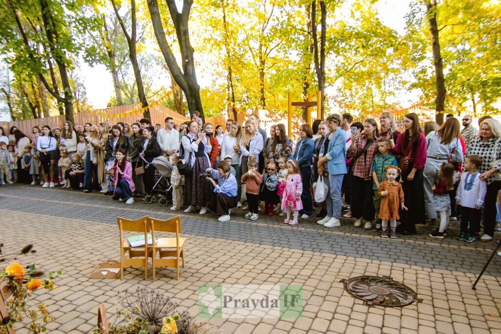
[[[207,208],[220,215],[218,221],[228,221],[231,208],[236,207],[236,179],[230,173],[229,165],[219,161],[217,170],[207,168],[206,173],[200,173],[214,186],[215,196],[212,196]],[[217,180],[217,182],[216,182]]]

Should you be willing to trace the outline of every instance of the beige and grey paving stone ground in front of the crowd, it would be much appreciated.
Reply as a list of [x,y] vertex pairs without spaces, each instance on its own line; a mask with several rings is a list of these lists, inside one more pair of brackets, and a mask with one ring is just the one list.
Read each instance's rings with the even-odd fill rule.
[[[197,314],[197,289],[204,284],[303,284],[304,311],[299,319],[213,319],[223,333],[501,333],[501,259],[495,256],[477,285],[471,284],[495,243],[453,239],[457,224],[443,241],[419,227],[409,238],[385,240],[354,228],[350,220],[328,229],[314,219],[297,227],[281,217],[231,220],[213,214],[173,213],[158,203],[133,205],[110,196],[30,186],[0,187],[0,241],[7,247],[32,242],[37,253],[25,262],[46,270],[62,268],[57,288],[36,292],[55,317],[50,333],[88,333],[97,305],[108,315],[119,310],[119,291],[157,288]],[[179,281],[172,268],[157,269],[157,279],[143,280],[141,269],[127,268],[124,280],[90,279],[97,264],[119,258],[116,217],[181,216],[186,268]],[[497,235],[498,237],[499,235]],[[343,289],[341,279],[359,275],[391,276],[417,292],[421,303],[402,308],[367,307]],[[16,325],[25,333],[25,324]]]

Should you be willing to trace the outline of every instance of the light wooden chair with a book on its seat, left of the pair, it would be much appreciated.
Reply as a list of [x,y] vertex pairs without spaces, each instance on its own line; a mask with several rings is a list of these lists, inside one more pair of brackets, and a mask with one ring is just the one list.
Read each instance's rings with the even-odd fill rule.
[[[148,278],[148,252],[151,251],[151,245],[147,244],[147,234],[150,231],[148,220],[148,216],[135,220],[117,217],[118,230],[120,231],[120,279],[124,278],[124,266],[132,265],[144,267],[144,279]],[[145,246],[131,247],[123,236],[124,231],[144,233]],[[128,258],[125,257],[126,251],[129,253]]]

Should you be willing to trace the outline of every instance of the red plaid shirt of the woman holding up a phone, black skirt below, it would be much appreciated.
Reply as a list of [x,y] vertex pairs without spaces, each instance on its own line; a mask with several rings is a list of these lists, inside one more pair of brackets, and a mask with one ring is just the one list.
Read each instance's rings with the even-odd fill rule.
[[372,161],[374,157],[378,154],[377,141],[379,137],[374,137],[373,139],[367,139],[366,136],[358,136],[355,139],[355,147],[350,147],[348,152],[346,152],[347,158],[354,158],[358,154],[362,153],[365,144],[368,140],[372,141],[372,145],[369,146],[367,152],[363,153],[358,159],[356,159],[355,164],[352,166],[353,175],[363,178],[364,180],[372,180]]

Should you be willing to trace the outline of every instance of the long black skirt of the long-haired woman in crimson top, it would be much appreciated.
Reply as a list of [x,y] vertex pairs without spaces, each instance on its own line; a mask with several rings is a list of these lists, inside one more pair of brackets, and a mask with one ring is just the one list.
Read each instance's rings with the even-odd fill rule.
[[416,224],[425,223],[423,170],[418,169],[412,181],[408,181],[407,176],[412,170],[412,165],[409,163],[405,173],[402,173],[404,203],[408,210],[400,210],[399,212],[401,222],[397,228],[399,233],[403,231],[416,233]]

